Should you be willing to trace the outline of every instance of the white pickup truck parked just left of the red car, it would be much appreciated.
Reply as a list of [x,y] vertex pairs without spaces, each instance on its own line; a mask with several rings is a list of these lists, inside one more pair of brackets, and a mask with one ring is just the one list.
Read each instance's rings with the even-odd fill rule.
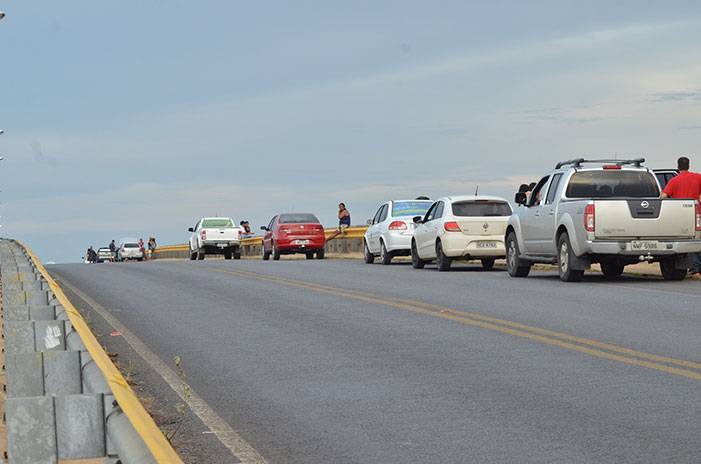
[[206,255],[224,255],[224,259],[241,259],[241,227],[227,217],[209,217],[187,229],[190,235],[190,259],[202,260]]

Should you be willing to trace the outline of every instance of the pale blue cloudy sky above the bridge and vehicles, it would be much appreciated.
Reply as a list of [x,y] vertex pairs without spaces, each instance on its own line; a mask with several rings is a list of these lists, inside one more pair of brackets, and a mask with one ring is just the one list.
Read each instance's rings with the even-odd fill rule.
[[[46,261],[203,216],[364,224],[573,156],[701,170],[701,3],[6,1],[0,235]],[[698,160],[698,161],[697,161]]]

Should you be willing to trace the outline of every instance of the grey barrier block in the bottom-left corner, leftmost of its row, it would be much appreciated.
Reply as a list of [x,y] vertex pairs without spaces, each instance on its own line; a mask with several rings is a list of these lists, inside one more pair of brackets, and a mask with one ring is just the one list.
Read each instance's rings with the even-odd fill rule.
[[50,396],[8,398],[7,453],[13,464],[56,464],[54,399]]

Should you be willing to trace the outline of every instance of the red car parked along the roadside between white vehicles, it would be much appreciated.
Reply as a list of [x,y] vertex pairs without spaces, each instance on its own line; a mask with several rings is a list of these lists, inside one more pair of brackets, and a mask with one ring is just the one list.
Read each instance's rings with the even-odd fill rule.
[[304,253],[307,259],[324,259],[326,236],[324,227],[313,214],[283,213],[275,216],[268,226],[261,227],[263,235],[263,259],[273,255],[279,260],[280,255]]

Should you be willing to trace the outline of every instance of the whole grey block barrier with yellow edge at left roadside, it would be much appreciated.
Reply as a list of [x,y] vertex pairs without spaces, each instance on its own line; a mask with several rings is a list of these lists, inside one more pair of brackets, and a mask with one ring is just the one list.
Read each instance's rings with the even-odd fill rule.
[[31,251],[0,241],[12,463],[182,461]]

